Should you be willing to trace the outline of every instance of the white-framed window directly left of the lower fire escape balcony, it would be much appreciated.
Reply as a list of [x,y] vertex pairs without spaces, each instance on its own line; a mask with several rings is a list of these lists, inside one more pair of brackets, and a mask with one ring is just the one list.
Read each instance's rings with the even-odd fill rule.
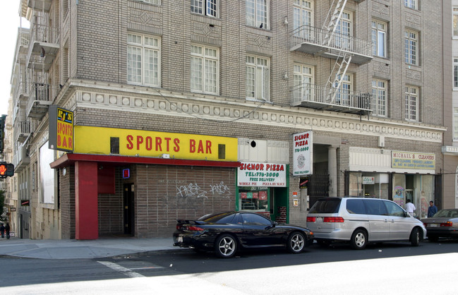
[[260,56],[246,56],[246,98],[269,100],[270,60]]

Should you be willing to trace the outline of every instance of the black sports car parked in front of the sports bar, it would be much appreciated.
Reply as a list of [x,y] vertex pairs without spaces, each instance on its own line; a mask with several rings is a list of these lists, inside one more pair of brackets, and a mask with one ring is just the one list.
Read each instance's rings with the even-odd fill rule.
[[174,232],[174,246],[215,251],[221,258],[231,258],[239,248],[286,246],[291,253],[300,253],[311,243],[313,232],[305,227],[278,224],[253,212],[179,219]]

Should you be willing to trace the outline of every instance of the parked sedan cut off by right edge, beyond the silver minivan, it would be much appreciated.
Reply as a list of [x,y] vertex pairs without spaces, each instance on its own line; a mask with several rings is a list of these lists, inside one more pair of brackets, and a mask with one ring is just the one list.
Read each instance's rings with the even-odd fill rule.
[[458,209],[442,209],[433,217],[421,219],[430,241],[443,237],[458,238]]

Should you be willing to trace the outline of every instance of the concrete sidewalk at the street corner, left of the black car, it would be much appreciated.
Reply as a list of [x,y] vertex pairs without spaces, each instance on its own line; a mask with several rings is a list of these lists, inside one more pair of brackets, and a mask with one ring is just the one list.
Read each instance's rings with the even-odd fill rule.
[[0,255],[40,259],[91,259],[159,250],[173,250],[173,239],[102,237],[97,240],[31,240],[0,238]]

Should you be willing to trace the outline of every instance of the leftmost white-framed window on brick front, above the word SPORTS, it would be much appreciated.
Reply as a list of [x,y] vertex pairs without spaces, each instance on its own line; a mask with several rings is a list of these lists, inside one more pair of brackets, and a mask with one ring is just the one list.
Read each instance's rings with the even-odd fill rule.
[[160,40],[127,34],[127,83],[160,87]]

